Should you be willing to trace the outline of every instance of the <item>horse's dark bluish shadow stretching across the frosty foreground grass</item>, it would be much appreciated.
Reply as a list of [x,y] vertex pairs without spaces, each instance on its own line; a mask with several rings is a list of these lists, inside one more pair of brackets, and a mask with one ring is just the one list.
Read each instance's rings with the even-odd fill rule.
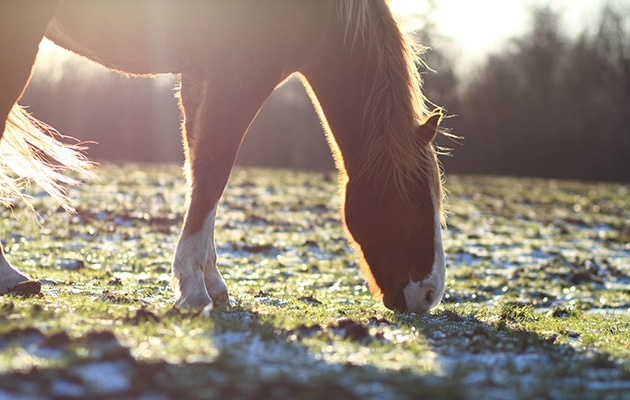
[[[496,324],[490,324],[446,310],[433,315],[390,314],[374,321],[347,318],[286,330],[249,309],[230,307],[215,310],[211,318],[139,310],[125,321],[205,324],[218,355],[211,361],[190,362],[138,361],[110,331],[72,339],[65,332],[45,335],[35,328],[16,329],[0,336],[0,351],[17,343],[31,356],[51,362],[0,374],[0,398],[459,399],[484,398],[490,392],[511,398],[598,398],[602,393],[614,398],[625,393],[623,386],[606,389],[601,384],[618,369],[608,355],[578,352],[553,338],[511,328],[519,317],[501,314]],[[379,367],[378,360],[363,365],[331,362],[302,341],[317,337],[333,348],[337,341],[369,347],[383,340],[386,327],[405,326],[414,327],[418,340],[428,343],[440,372]],[[429,354],[418,353],[419,358],[425,356]]]

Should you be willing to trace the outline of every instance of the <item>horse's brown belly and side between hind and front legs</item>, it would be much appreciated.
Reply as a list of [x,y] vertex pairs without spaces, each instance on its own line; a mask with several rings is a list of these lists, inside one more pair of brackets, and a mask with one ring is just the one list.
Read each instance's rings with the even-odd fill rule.
[[[305,53],[329,2],[289,0],[63,0],[46,36],[109,68],[173,72]],[[220,58],[220,59],[219,59]]]

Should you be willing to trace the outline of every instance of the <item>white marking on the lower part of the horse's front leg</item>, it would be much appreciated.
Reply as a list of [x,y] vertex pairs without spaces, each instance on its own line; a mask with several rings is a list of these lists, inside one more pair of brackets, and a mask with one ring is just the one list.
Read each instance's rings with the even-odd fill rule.
[[216,207],[199,232],[179,237],[173,260],[175,307],[201,308],[213,299],[217,303],[227,302],[227,285],[216,266],[215,215]]

